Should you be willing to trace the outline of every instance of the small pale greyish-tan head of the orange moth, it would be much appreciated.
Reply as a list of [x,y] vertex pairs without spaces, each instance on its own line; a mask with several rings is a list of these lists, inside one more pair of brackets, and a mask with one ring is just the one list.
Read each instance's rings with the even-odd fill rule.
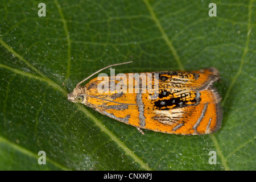
[[84,94],[86,94],[85,86],[77,86],[73,92],[68,94],[68,100],[87,105],[86,96],[83,96]]

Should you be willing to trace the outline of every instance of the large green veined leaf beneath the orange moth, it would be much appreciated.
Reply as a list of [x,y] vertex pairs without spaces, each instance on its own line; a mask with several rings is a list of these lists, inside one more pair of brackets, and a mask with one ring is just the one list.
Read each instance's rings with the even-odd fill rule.
[[[208,15],[211,2],[217,16]],[[44,1],[46,17],[38,3],[0,5],[0,169],[256,169],[256,2],[55,0]],[[116,73],[216,67],[221,129],[142,135],[67,100],[91,73],[129,60]]]

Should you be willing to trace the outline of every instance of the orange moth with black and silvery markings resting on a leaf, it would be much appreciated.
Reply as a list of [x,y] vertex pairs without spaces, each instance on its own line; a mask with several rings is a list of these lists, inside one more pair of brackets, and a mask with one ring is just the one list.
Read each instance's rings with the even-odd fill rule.
[[203,135],[220,128],[221,97],[213,86],[220,80],[216,68],[137,73],[139,76],[150,75],[145,78],[146,81],[142,77],[138,79],[138,75],[129,77],[133,73],[123,73],[122,79],[117,75],[96,77],[81,86],[82,82],[98,72],[127,63],[109,65],[85,78],[68,94],[68,100],[80,102],[110,118],[135,126],[142,134],[141,129]]

